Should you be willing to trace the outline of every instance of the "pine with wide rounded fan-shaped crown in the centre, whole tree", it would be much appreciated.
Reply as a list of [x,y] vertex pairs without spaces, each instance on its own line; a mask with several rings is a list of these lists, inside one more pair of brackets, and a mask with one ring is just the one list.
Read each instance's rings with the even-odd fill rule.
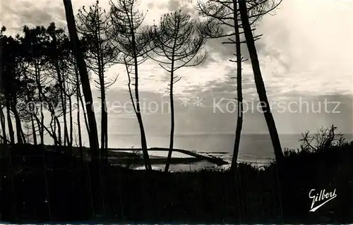
[[[153,53],[151,59],[157,61],[160,66],[170,74],[169,97],[171,109],[171,129],[169,152],[165,172],[169,170],[170,159],[172,158],[174,144],[174,97],[173,87],[181,77],[175,75],[179,68],[198,66],[205,61],[206,54],[199,54],[205,44],[206,37],[198,27],[200,23],[192,21],[191,16],[181,11],[167,13],[161,18],[160,27],[153,30],[154,37]],[[160,59],[162,57],[162,59]]]

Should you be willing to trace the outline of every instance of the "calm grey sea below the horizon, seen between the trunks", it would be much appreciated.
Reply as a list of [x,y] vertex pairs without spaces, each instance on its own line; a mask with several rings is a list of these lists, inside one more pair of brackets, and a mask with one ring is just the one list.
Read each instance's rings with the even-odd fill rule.
[[[234,134],[177,134],[174,138],[174,148],[193,150],[203,154],[212,154],[222,157],[228,162],[232,159],[234,147]],[[140,135],[138,134],[114,134],[109,135],[109,147],[140,147]],[[282,149],[297,149],[300,146],[300,134],[282,134],[280,140]],[[353,135],[346,135],[347,140],[352,140]],[[169,147],[168,134],[147,135],[148,147]],[[167,156],[167,152],[150,152],[150,155]],[[188,157],[179,152],[173,152],[172,157]],[[273,146],[268,134],[242,134],[239,147],[238,162],[249,162],[264,165],[274,159]],[[193,167],[213,167],[208,162],[200,162],[193,165],[184,165],[185,170]],[[155,165],[155,168],[160,165]],[[175,167],[175,166],[174,166]],[[180,170],[180,165],[177,166]],[[173,169],[173,166],[171,166]],[[175,169],[175,168],[174,168]]]

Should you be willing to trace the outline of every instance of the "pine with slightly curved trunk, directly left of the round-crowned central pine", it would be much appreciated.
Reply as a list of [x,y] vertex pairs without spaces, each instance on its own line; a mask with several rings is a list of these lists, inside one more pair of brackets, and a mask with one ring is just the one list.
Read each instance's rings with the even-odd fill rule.
[[[138,90],[138,66],[145,62],[145,54],[152,50],[150,49],[150,42],[152,40],[149,35],[150,28],[142,26],[145,16],[136,8],[138,0],[118,0],[116,4],[110,1],[110,5],[112,28],[109,30],[109,33],[110,37],[113,37],[112,42],[115,49],[123,54],[120,62],[124,63],[126,66],[128,89],[140,127],[145,168],[151,170],[152,166],[150,165],[150,157],[147,152],[147,140],[140,112],[140,96]],[[131,91],[131,74],[133,74],[133,86],[135,86],[134,97]]]

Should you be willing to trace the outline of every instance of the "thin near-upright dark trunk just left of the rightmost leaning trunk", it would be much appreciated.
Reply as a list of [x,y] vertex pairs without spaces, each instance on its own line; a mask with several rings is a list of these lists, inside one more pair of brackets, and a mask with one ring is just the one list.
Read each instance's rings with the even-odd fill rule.
[[239,34],[239,23],[238,23],[238,5],[237,0],[233,0],[233,17],[234,17],[234,33],[236,42],[236,55],[237,55],[237,129],[235,131],[234,149],[233,149],[233,159],[231,164],[231,171],[237,169],[237,159],[239,154],[239,145],[241,137],[241,128],[243,127],[243,90],[241,87],[241,42]]

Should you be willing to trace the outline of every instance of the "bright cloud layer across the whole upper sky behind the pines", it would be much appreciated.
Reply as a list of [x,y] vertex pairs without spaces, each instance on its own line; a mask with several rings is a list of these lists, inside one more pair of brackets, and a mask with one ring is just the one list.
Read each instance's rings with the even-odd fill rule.
[[[73,9],[94,1],[73,1]],[[100,1],[102,8],[108,7],[108,0]],[[183,10],[193,13],[189,1],[141,1],[140,10],[147,13],[145,23],[152,24],[163,13]],[[148,12],[147,12],[148,10]],[[66,26],[62,1],[2,1],[1,25],[8,32],[16,34],[21,26],[57,25]],[[261,62],[261,71],[268,95],[271,98],[298,95],[351,94],[353,90],[353,21],[352,1],[345,0],[287,0],[277,9],[275,16],[265,16],[258,25],[256,34],[263,37],[256,42]],[[207,63],[195,68],[178,71],[182,78],[175,85],[177,95],[196,95],[198,92],[234,90],[235,64],[230,63],[234,54],[231,45],[220,44],[221,39],[208,42]],[[249,57],[246,45],[242,44],[245,58]],[[127,90],[124,66],[113,66],[108,76],[119,73],[112,88]],[[253,83],[253,72],[248,62],[244,63],[244,81]],[[165,92],[168,75],[157,63],[147,61],[140,66],[140,89]],[[256,92],[244,85],[249,96]],[[255,95],[256,96],[256,95]]]

